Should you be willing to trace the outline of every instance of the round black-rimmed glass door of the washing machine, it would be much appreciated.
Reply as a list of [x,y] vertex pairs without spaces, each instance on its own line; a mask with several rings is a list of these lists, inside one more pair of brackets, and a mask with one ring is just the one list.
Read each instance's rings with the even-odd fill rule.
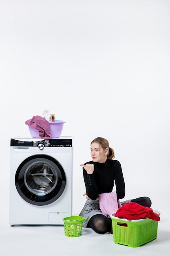
[[62,195],[65,185],[64,169],[49,155],[26,158],[15,174],[16,189],[30,204],[51,204]]

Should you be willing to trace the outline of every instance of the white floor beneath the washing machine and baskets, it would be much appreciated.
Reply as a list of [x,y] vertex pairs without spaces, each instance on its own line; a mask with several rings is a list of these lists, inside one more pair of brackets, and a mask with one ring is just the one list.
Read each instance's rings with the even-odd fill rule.
[[[17,207],[17,206],[16,206]],[[64,235],[64,226],[15,226],[9,225],[9,214],[1,213],[0,255],[67,255],[67,256],[169,256],[170,223],[167,216],[160,216],[157,239],[141,247],[128,247],[113,243],[113,235],[99,235],[83,228],[82,236]]]

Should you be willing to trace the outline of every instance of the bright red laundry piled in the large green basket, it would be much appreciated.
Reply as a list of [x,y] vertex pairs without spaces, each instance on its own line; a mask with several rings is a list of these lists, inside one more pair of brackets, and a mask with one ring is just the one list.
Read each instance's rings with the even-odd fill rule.
[[160,217],[157,213],[149,207],[141,206],[137,203],[126,203],[122,205],[117,212],[115,213],[115,217],[117,218],[126,218],[127,220],[139,220],[139,219],[152,219],[152,220],[160,220]]

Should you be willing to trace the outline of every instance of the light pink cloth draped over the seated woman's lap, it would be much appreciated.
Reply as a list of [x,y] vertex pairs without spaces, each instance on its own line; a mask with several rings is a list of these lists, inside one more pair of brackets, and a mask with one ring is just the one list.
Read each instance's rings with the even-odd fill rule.
[[117,193],[99,194],[99,207],[105,216],[110,217],[111,214],[115,213],[121,207],[120,201],[117,200]]

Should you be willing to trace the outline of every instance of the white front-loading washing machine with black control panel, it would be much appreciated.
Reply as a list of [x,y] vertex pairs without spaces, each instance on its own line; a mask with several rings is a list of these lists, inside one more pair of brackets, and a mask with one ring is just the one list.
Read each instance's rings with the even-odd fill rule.
[[11,138],[11,226],[64,225],[72,215],[72,177],[72,137]]

